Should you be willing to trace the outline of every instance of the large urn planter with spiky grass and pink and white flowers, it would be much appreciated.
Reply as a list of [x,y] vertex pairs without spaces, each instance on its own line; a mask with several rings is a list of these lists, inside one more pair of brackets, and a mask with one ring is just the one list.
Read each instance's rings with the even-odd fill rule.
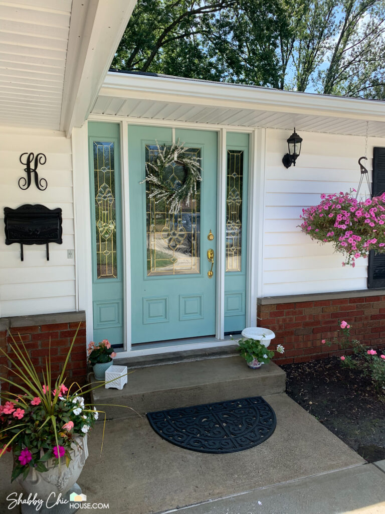
[[37,495],[42,502],[52,499],[52,493],[53,502],[59,494],[67,499],[71,492],[81,494],[75,482],[88,456],[88,431],[103,412],[86,403],[84,395],[104,387],[105,382],[94,387],[79,387],[75,382],[65,385],[66,366],[78,331],[55,381],[51,378],[50,348],[42,380],[22,340],[16,344],[11,336],[13,344],[8,345],[8,352],[0,348],[12,366],[5,369],[17,377],[13,381],[7,374],[0,376],[0,382],[10,386],[10,391],[3,387],[0,393],[0,457],[13,452],[11,481],[17,478],[27,494]]

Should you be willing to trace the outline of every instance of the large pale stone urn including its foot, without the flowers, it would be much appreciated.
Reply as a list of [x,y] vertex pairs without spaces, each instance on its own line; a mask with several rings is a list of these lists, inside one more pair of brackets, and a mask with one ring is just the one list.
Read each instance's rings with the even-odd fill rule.
[[[17,478],[18,483],[25,491],[24,498],[28,498],[30,495],[31,499],[36,497],[43,501],[42,508],[38,510],[39,514],[69,514],[76,512],[79,508],[79,504],[76,508],[70,508],[69,497],[72,492],[82,493],[76,480],[78,480],[88,457],[87,434],[84,437],[75,436],[74,439],[79,446],[72,444],[71,461],[68,468],[65,457],[61,457],[59,471],[57,459],[53,457],[44,463],[48,471],[40,472],[32,468],[25,480],[22,475]],[[55,505],[60,494],[60,503]],[[67,501],[64,502],[64,500]],[[22,504],[22,514],[32,514],[32,512],[36,514],[36,505]]]

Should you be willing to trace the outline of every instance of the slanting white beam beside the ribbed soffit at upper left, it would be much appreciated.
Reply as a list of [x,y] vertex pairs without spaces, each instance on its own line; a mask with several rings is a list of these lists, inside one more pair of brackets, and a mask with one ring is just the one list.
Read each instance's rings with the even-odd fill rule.
[[137,0],[74,0],[60,130],[87,119]]

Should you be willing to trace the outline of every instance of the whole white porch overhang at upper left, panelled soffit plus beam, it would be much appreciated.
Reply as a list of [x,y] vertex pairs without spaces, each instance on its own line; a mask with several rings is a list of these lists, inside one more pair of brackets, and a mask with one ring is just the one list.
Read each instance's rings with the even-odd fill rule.
[[0,0],[0,124],[81,126],[136,0]]

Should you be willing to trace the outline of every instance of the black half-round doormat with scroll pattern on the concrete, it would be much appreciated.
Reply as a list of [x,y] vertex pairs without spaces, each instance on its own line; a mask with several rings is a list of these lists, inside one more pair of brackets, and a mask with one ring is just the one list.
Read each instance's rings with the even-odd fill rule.
[[169,443],[203,453],[253,448],[277,425],[275,412],[261,396],[148,412],[147,417]]

